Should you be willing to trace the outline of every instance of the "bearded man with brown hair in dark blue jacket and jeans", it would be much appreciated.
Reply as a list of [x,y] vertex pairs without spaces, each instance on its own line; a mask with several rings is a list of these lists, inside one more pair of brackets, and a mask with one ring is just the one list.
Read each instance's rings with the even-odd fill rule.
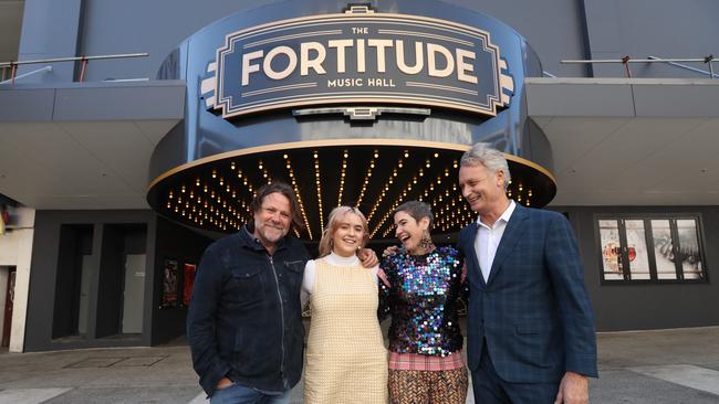
[[[309,254],[293,189],[260,188],[253,222],[202,255],[187,317],[192,365],[213,404],[288,403],[302,375],[300,289]],[[363,251],[363,265],[377,264]]]

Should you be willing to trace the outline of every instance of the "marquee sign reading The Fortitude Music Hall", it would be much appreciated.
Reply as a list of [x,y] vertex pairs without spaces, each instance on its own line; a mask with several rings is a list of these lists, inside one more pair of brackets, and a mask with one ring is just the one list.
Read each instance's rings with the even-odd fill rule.
[[232,32],[207,72],[202,97],[223,118],[358,103],[494,116],[514,89],[489,32],[366,6]]

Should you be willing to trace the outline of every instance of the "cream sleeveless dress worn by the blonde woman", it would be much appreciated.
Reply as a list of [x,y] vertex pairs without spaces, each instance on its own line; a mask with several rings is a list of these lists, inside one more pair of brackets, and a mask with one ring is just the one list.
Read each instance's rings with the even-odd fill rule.
[[332,262],[327,258],[314,261],[304,403],[387,403],[376,276],[356,258],[352,265],[336,264],[342,257],[334,255]]

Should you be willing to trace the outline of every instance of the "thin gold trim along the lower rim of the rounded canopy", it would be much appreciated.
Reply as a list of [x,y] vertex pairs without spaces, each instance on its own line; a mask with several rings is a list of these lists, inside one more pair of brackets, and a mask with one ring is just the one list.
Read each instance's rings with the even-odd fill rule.
[[[160,181],[165,180],[168,177],[171,177],[180,171],[189,170],[195,167],[204,166],[213,161],[225,160],[232,157],[256,155],[261,152],[278,151],[278,150],[292,150],[292,149],[306,149],[312,147],[332,147],[332,146],[399,146],[399,147],[424,147],[433,148],[440,150],[454,150],[454,151],[467,151],[471,146],[468,145],[458,145],[458,143],[446,143],[441,141],[427,141],[427,140],[411,140],[411,139],[327,139],[327,140],[309,140],[309,141],[292,141],[286,143],[274,143],[265,146],[249,147],[244,149],[226,151],[218,155],[212,155],[177,166],[174,169],[167,170],[164,173],[156,177],[147,187],[147,193],[149,193],[155,185]],[[553,183],[556,184],[554,176],[544,167],[527,160],[522,157],[514,155],[504,153],[504,158],[509,161],[515,163],[528,166],[542,174],[546,176]]]

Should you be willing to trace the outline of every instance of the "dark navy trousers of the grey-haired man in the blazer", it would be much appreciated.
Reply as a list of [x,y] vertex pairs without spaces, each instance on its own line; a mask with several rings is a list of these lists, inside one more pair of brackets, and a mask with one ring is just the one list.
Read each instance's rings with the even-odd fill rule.
[[482,404],[554,403],[559,383],[509,383],[497,374],[489,357],[487,342],[482,343],[479,369],[472,372],[475,402]]

